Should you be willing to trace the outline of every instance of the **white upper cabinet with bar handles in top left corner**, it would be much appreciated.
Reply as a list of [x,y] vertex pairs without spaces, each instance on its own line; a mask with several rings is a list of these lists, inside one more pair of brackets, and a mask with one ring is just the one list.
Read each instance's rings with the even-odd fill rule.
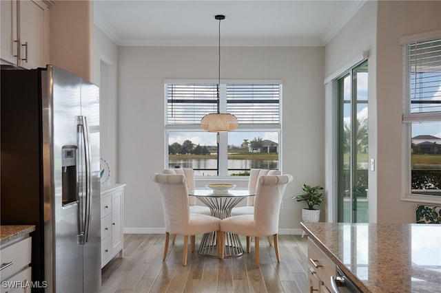
[[49,9],[39,0],[1,1],[1,58],[32,69],[49,60]]

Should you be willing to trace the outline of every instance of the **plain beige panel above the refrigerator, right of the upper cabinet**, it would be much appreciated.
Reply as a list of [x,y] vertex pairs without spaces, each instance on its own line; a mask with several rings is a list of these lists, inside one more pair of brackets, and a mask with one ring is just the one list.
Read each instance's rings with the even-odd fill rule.
[[50,11],[50,64],[92,80],[92,1],[56,1]]

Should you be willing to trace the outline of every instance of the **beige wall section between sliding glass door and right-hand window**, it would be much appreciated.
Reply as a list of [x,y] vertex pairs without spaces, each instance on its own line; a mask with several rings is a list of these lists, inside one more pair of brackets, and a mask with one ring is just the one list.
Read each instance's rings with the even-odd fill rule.
[[402,193],[401,36],[441,29],[441,1],[379,1],[377,30],[378,222],[412,223],[416,202]]

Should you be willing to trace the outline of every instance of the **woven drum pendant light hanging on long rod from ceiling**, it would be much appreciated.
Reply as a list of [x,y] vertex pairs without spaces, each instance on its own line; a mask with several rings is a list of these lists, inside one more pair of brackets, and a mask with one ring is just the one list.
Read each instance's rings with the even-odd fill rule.
[[218,58],[218,85],[217,85],[217,104],[218,112],[209,113],[201,119],[202,129],[208,132],[227,132],[232,131],[237,128],[237,118],[236,116],[229,113],[220,113],[220,98],[219,98],[219,87],[220,87],[220,21],[225,19],[225,15],[216,15],[214,19],[219,21],[219,58]]

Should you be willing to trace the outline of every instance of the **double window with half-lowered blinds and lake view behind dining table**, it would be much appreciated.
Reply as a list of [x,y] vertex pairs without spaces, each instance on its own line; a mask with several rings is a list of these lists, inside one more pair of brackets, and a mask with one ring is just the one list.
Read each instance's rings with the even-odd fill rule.
[[[281,80],[210,82],[165,80],[165,167],[192,168],[198,177],[229,180],[254,168],[279,169]],[[203,116],[218,109],[236,116],[235,131],[201,129]]]

